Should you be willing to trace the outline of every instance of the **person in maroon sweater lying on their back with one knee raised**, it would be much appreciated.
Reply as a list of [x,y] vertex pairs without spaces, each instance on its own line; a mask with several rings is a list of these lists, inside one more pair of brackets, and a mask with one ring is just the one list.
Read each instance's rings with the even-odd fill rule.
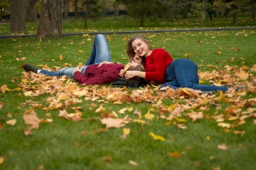
[[[108,42],[104,35],[98,34],[93,43],[93,49],[84,67],[61,68],[58,71],[39,70],[31,64],[24,64],[23,68],[29,72],[41,73],[47,76],[70,76],[80,84],[111,83],[116,78],[124,77],[124,65],[111,62],[111,54]],[[135,62],[129,63],[128,70],[145,71],[142,65]],[[134,77],[131,81],[140,81],[140,77]]]

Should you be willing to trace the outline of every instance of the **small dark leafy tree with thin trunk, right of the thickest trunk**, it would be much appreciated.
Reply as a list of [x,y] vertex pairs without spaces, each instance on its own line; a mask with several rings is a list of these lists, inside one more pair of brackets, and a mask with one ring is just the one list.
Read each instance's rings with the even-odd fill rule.
[[101,10],[103,9],[104,2],[101,0],[83,0],[83,6],[85,8],[85,27],[87,27],[87,21],[89,18],[96,21],[96,18],[101,16]]

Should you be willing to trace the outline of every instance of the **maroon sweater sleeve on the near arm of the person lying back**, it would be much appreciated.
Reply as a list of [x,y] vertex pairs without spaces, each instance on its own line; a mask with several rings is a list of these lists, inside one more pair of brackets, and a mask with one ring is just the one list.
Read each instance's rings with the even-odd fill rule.
[[86,77],[85,75],[81,74],[79,71],[76,71],[74,73],[75,79],[79,82],[80,85],[87,84],[87,85],[97,85],[102,83],[111,83],[116,78],[119,78],[116,76],[116,71],[109,71],[104,72],[103,74],[96,76],[96,77]]

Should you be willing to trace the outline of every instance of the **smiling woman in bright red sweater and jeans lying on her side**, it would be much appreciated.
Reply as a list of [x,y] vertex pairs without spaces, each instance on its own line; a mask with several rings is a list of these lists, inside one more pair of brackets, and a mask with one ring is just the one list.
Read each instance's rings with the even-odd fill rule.
[[201,91],[227,91],[228,87],[199,85],[198,67],[190,59],[175,59],[163,49],[152,49],[150,42],[142,35],[131,37],[126,43],[130,61],[143,64],[145,72],[127,71],[125,78],[138,76],[160,84],[160,88],[192,88]]

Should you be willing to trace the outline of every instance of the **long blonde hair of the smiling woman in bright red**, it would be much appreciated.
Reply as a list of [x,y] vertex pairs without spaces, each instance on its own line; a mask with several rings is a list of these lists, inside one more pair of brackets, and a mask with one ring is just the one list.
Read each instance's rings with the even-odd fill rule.
[[143,35],[134,35],[133,37],[130,38],[130,40],[128,40],[126,42],[126,54],[128,55],[128,58],[129,58],[129,62],[132,62],[134,61],[134,57],[135,57],[135,52],[131,46],[131,43],[134,41],[134,40],[137,40],[137,39],[140,39],[142,40],[143,42],[145,42],[147,45],[148,45],[148,49],[149,50],[153,50],[151,45],[150,45],[150,42],[148,41],[148,39],[146,39],[146,37],[144,37]]

